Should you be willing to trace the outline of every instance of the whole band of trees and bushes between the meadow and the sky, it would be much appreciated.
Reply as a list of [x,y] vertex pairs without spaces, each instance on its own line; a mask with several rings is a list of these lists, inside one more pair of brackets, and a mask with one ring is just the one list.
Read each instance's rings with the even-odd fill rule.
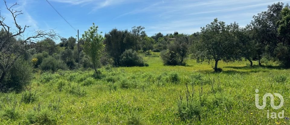
[[[253,60],[262,65],[263,58],[290,67],[290,11],[289,5],[282,2],[269,5],[267,11],[253,16],[246,27],[214,19],[191,35],[175,31],[147,36],[145,27],[135,26],[130,30],[112,29],[102,36],[93,24],[79,41],[74,37],[62,38],[53,30],[35,31],[33,36],[23,39],[29,27],[18,25],[16,17],[21,11],[6,9],[14,18],[18,32],[12,33],[5,17],[0,16],[2,92],[21,90],[37,70],[92,68],[98,78],[101,74],[98,68],[102,65],[148,66],[143,56],[150,56],[152,52],[160,52],[164,65],[186,65],[188,58],[197,62],[213,61],[215,72],[221,71],[219,61],[248,60],[252,67]],[[57,38],[59,43],[55,42]]]

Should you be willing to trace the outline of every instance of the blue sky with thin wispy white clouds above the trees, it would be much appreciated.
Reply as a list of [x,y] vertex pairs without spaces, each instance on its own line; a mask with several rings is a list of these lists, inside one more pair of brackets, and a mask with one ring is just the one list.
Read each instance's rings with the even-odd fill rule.
[[[45,0],[7,0],[8,5],[17,2],[24,14],[18,22],[27,24],[29,30],[54,29],[60,36],[76,36],[73,30]],[[253,15],[267,10],[276,0],[48,0],[59,12],[79,29],[80,36],[94,22],[99,31],[131,29],[143,26],[148,36],[161,32],[192,34],[200,27],[218,18],[226,23],[236,21],[244,27]],[[280,0],[290,3],[290,0]],[[12,25],[11,15],[0,4],[6,23]],[[29,35],[26,32],[25,35]]]

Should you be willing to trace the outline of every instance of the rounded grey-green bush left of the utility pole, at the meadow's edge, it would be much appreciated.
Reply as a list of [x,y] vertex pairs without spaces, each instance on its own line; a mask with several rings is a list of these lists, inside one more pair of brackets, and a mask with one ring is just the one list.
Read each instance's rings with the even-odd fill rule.
[[53,57],[48,57],[48,58],[45,58],[42,63],[40,64],[40,69],[43,70],[43,71],[56,71],[58,69],[62,69],[62,70],[65,70],[67,69],[66,67],[66,64],[61,61],[61,60],[57,60]]

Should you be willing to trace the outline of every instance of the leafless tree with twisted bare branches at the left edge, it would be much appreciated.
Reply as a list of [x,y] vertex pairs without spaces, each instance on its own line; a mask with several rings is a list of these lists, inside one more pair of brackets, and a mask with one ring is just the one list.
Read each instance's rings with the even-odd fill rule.
[[[43,30],[33,30],[31,31],[33,35],[24,37],[24,32],[30,26],[25,25],[20,26],[17,23],[17,17],[22,13],[21,11],[14,10],[13,8],[18,5],[17,3],[12,6],[8,6],[7,2],[4,0],[6,9],[13,17],[13,28],[5,24],[5,17],[1,15],[0,11],[0,91],[3,86],[3,79],[7,74],[8,70],[11,69],[14,62],[21,56],[21,52],[24,51],[24,47],[28,45],[35,45],[36,42],[42,39],[56,39],[58,34],[53,30],[43,31]],[[15,28],[16,27],[16,28]]]

